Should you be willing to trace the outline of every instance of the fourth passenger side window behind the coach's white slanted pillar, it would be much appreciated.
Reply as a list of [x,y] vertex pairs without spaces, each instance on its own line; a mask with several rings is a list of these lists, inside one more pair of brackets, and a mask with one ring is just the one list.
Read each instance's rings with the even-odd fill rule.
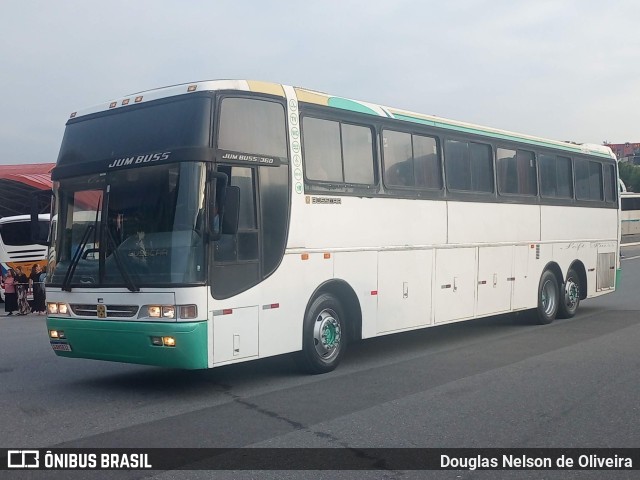
[[500,193],[537,195],[536,160],[533,152],[499,148],[497,161]]

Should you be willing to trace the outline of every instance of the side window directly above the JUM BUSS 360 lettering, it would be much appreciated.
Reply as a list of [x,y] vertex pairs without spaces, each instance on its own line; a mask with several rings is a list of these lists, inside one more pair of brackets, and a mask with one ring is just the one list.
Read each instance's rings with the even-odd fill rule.
[[218,148],[287,157],[284,108],[250,98],[225,98],[220,107]]

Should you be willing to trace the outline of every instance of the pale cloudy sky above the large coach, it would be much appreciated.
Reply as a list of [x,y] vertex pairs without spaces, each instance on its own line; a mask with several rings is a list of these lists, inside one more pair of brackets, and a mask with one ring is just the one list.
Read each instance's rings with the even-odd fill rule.
[[580,143],[640,142],[637,0],[0,0],[0,164],[73,111],[252,79]]

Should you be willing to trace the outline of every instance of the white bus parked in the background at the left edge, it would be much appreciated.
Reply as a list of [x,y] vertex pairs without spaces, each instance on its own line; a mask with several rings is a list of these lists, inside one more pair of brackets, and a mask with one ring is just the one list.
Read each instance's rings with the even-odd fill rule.
[[[47,238],[49,233],[49,214],[38,216],[40,236]],[[24,273],[29,276],[31,267],[39,264],[44,268],[47,264],[47,246],[34,244],[31,235],[31,217],[29,215],[16,215],[0,218],[0,269],[2,277],[9,268],[22,267]],[[0,288],[0,295],[4,301],[4,281]],[[29,298],[32,296],[29,290]]]

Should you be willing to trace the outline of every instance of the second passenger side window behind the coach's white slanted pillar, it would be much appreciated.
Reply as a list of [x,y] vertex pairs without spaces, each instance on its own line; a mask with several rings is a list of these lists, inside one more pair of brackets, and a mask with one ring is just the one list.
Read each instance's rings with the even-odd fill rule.
[[384,130],[383,147],[387,185],[442,188],[440,159],[435,138]]

